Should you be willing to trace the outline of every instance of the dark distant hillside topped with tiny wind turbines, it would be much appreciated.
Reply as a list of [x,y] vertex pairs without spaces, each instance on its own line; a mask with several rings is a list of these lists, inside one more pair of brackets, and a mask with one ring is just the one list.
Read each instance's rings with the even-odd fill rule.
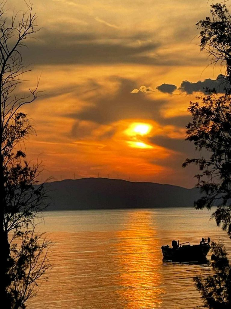
[[152,208],[193,206],[200,194],[169,184],[83,178],[47,183],[48,210]]

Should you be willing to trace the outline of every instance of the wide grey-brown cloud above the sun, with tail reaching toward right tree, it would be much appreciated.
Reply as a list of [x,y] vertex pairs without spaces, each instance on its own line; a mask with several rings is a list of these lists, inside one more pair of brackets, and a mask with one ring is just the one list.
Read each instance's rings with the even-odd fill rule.
[[144,118],[157,121],[160,125],[175,125],[181,128],[191,121],[189,114],[162,117],[160,108],[163,108],[167,102],[164,99],[155,100],[146,92],[131,93],[136,83],[130,79],[112,77],[110,81],[119,83],[114,95],[105,94],[103,87],[93,80],[84,83],[81,88],[78,87],[74,95],[80,97],[87,106],[84,105],[83,109],[64,116],[97,124],[110,124],[121,119]]

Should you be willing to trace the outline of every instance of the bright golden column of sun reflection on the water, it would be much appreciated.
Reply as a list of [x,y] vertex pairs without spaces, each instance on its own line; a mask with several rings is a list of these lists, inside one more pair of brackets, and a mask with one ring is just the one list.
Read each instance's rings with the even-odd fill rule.
[[118,292],[126,308],[160,308],[164,291],[160,287],[160,243],[153,218],[148,211],[130,214],[128,228],[117,232],[118,281],[122,286]]

